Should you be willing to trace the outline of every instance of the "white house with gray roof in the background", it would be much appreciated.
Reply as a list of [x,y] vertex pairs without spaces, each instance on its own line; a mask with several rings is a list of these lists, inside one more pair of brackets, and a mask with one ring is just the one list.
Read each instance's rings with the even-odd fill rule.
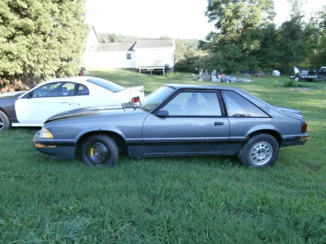
[[169,65],[173,72],[174,50],[173,39],[100,43],[93,27],[87,40],[82,66],[87,70],[134,68],[141,72],[164,70],[165,65]]

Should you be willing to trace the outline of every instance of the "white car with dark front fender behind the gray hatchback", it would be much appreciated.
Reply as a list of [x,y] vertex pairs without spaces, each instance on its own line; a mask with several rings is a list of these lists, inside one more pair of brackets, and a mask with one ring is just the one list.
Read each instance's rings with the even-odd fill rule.
[[41,127],[53,114],[96,105],[139,102],[144,86],[125,88],[101,78],[52,79],[25,92],[0,94],[0,130]]

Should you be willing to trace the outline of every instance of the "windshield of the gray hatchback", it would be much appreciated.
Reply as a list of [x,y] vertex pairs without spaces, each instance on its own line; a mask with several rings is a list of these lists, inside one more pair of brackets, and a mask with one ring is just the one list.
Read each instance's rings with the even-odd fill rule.
[[162,86],[144,98],[141,108],[149,112],[158,104],[163,102],[173,92],[174,88]]

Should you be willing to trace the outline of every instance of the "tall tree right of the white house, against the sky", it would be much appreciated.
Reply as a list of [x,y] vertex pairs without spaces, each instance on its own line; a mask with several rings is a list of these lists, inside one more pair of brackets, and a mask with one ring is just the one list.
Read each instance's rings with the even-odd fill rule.
[[225,70],[256,66],[252,55],[261,46],[260,30],[275,16],[273,0],[209,0],[206,16],[216,30],[199,47],[219,55]]

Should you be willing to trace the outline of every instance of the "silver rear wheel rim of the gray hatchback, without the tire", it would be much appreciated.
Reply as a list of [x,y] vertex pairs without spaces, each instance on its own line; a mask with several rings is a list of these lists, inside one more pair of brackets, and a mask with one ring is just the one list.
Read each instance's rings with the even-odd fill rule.
[[273,147],[268,142],[258,142],[250,150],[250,160],[255,165],[269,162],[273,156]]

